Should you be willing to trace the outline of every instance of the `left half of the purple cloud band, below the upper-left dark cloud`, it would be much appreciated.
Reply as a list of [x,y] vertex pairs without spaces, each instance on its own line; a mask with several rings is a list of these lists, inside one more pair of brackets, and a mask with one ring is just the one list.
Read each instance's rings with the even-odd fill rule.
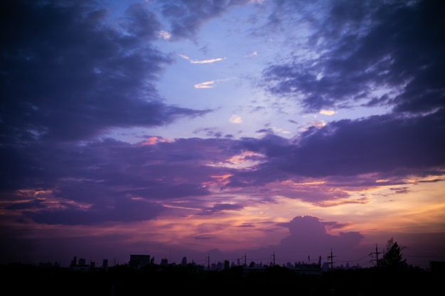
[[[10,203],[5,210],[23,211],[25,217],[46,224],[154,219],[166,210],[156,204],[158,201],[210,195],[203,183],[215,182],[211,176],[232,170],[208,163],[223,163],[240,153],[242,147],[234,144],[236,141],[198,138],[156,145],[131,145],[112,139],[75,146],[36,143],[32,150],[23,148],[26,153],[8,155],[11,168],[14,163],[28,164],[20,167],[23,171],[11,175],[2,167],[2,186]],[[24,196],[20,190],[29,193]],[[36,199],[34,190],[45,194]],[[202,204],[198,202],[195,207]],[[203,210],[240,207],[217,204]]]

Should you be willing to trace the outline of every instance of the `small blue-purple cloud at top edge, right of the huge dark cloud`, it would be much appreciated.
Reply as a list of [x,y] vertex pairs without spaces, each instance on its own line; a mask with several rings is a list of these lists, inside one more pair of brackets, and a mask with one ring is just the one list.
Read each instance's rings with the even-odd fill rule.
[[173,38],[194,39],[199,28],[212,18],[220,16],[232,6],[248,0],[180,0],[162,1],[162,14],[170,21]]

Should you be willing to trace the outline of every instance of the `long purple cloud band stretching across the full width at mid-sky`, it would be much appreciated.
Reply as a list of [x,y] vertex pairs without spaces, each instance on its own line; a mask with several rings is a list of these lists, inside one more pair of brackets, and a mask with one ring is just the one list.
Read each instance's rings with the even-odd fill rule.
[[[11,200],[2,208],[53,224],[73,223],[79,215],[90,224],[123,221],[118,207],[146,209],[129,219],[154,219],[172,200],[189,199],[190,207],[208,213],[228,209],[208,207],[205,197],[215,194],[214,187],[252,194],[249,188],[266,185],[255,198],[271,202],[285,196],[321,207],[363,204],[369,201],[351,199],[342,188],[380,186],[376,180],[403,187],[404,177],[443,174],[445,131],[431,127],[445,126],[444,119],[437,112],[409,120],[387,114],[333,121],[294,139],[267,133],[240,140],[149,137],[147,145],[103,139],[1,146],[0,185]],[[251,155],[243,160],[251,165],[227,165],[240,155]],[[324,183],[305,181],[311,178]],[[31,191],[23,203],[24,188]]]

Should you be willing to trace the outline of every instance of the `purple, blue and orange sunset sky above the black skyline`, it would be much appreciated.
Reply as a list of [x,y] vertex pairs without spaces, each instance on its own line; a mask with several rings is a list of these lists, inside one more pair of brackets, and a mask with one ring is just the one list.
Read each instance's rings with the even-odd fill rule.
[[445,261],[443,1],[16,0],[0,26],[0,263]]

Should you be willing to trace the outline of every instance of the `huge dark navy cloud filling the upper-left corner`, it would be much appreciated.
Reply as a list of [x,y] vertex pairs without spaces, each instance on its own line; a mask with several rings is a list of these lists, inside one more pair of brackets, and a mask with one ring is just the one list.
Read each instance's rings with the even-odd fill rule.
[[207,111],[168,106],[154,82],[173,60],[151,45],[160,23],[130,6],[120,23],[90,1],[2,1],[1,141],[83,140]]

